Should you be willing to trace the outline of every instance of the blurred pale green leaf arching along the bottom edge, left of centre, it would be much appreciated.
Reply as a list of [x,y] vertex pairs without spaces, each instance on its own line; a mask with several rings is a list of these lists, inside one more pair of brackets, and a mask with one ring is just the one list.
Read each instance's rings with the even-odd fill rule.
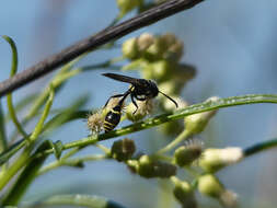
[[44,201],[34,204],[31,207],[37,207],[41,205],[57,206],[78,206],[78,207],[89,207],[89,208],[125,208],[122,205],[114,203],[107,198],[95,196],[95,195],[56,195],[49,197]]

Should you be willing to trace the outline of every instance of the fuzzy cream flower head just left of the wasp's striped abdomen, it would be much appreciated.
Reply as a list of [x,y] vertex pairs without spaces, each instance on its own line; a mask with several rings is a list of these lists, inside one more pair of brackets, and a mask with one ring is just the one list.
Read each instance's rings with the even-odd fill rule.
[[99,134],[103,129],[104,116],[102,111],[88,116],[86,125],[92,134]]

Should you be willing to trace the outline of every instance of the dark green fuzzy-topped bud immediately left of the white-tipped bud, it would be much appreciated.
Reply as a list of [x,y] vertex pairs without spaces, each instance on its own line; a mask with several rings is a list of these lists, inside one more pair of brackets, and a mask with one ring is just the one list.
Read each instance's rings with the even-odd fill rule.
[[174,152],[175,163],[178,166],[191,165],[203,152],[203,145],[198,141],[192,141],[187,146],[177,148]]

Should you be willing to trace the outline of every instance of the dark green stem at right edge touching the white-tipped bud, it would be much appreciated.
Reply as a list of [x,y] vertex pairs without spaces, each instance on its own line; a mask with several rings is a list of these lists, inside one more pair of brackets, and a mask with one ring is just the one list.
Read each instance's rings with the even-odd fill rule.
[[262,141],[259,143],[245,148],[243,150],[243,153],[244,153],[244,157],[250,157],[261,151],[264,151],[270,148],[276,148],[276,147],[277,147],[277,138],[268,140],[268,141]]

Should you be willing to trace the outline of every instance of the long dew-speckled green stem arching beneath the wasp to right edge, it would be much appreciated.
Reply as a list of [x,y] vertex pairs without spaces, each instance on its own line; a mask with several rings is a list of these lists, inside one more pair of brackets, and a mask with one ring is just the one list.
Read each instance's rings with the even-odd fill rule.
[[[120,137],[120,136],[136,132],[139,130],[152,128],[154,126],[164,124],[166,122],[184,118],[185,116],[198,114],[201,112],[208,112],[211,109],[218,109],[218,108],[223,108],[223,107],[229,107],[229,106],[255,104],[255,103],[277,103],[277,95],[251,94],[251,95],[243,95],[243,96],[233,96],[233,97],[228,97],[228,99],[219,99],[217,101],[208,101],[208,102],[191,105],[188,107],[184,107],[173,113],[162,114],[153,118],[148,118],[140,123],[136,123],[117,130],[112,130],[106,134],[101,134],[99,136],[91,136],[88,138],[83,138],[77,141],[66,143],[64,146],[64,150],[76,148],[76,147],[84,147],[89,145],[94,145],[97,141],[107,140],[111,138]],[[45,152],[42,152],[41,154],[45,154],[45,153],[49,154],[53,152],[54,151],[49,149],[49,150],[46,150]]]

